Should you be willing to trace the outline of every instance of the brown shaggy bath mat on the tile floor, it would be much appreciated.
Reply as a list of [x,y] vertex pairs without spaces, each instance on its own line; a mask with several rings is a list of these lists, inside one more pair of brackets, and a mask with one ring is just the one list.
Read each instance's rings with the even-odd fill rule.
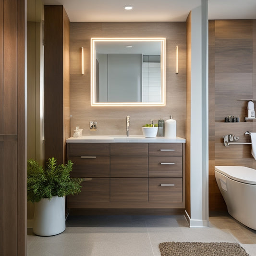
[[164,242],[158,247],[161,256],[249,256],[237,243]]

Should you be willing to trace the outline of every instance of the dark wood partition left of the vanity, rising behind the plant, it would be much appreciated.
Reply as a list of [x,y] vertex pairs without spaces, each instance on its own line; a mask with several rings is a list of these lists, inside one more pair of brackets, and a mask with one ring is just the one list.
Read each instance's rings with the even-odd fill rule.
[[63,6],[45,6],[45,159],[67,158],[70,137],[70,22]]

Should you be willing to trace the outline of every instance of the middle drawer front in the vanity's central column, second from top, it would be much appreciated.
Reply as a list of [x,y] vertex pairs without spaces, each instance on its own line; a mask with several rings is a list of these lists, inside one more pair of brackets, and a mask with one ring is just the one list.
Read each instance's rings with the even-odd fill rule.
[[147,177],[147,157],[110,157],[110,177]]

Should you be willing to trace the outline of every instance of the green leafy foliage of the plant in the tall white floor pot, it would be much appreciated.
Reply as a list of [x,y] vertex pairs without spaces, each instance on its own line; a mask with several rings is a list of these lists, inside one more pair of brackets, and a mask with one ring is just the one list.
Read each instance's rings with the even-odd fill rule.
[[46,168],[36,160],[27,161],[27,201],[39,202],[42,198],[52,198],[58,195],[75,195],[81,190],[83,179],[71,178],[73,163],[57,165],[57,159],[49,158]]

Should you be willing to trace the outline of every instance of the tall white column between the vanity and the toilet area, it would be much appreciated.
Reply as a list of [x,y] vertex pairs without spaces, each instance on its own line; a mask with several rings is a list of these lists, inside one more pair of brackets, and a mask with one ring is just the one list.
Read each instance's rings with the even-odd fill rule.
[[208,3],[191,12],[190,227],[208,226]]

